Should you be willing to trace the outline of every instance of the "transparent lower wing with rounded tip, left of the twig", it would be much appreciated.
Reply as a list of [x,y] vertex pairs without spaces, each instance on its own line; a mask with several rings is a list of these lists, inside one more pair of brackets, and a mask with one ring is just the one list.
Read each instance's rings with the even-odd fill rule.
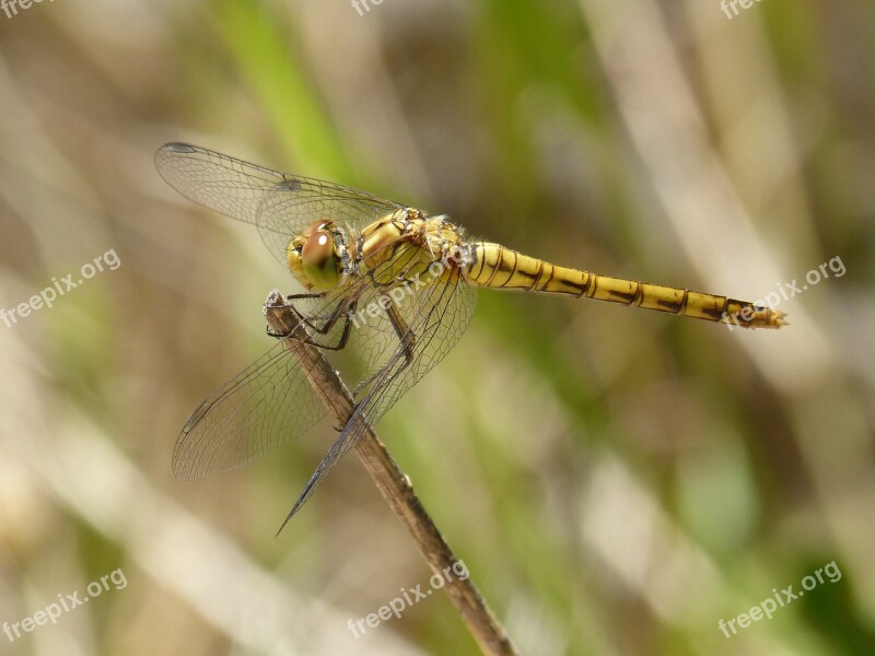
[[306,373],[278,342],[191,413],[173,449],[173,472],[194,479],[229,471],[313,427],[326,411]]

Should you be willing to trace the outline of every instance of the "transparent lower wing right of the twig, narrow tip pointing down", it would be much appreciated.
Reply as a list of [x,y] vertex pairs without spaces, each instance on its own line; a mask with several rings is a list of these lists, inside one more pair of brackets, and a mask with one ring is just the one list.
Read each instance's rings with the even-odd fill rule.
[[[395,288],[398,289],[398,288]],[[370,304],[387,290],[362,295]],[[396,303],[397,300],[397,303]],[[475,291],[460,280],[458,269],[447,268],[422,289],[393,298],[394,317],[389,313],[365,313],[355,333],[369,359],[357,409],[335,444],[311,477],[298,502],[285,518],[288,523],[306,503],[315,489],[369,426],[422,376],[434,367],[462,338],[476,305]],[[361,311],[361,304],[359,304]],[[394,342],[395,348],[386,349]]]

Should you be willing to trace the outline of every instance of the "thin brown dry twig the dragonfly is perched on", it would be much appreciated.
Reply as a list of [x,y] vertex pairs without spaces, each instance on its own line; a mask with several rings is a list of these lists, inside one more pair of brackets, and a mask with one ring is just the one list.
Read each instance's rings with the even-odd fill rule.
[[[276,290],[265,301],[265,317],[270,328],[279,335],[293,335],[298,328],[296,314]],[[294,338],[285,339],[285,344],[307,372],[310,384],[325,407],[336,418],[335,425],[345,425],[355,409],[355,402],[337,372],[316,347]],[[373,429],[365,431],[355,444],[355,450],[383,497],[413,536],[429,566],[435,574],[443,575],[458,559],[422,507],[410,479],[395,464]],[[453,578],[446,583],[444,589],[483,654],[518,655],[470,576],[465,581]]]

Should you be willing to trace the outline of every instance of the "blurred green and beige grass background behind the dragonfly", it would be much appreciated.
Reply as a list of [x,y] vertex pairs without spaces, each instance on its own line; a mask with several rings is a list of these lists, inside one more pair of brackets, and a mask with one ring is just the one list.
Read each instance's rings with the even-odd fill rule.
[[865,0],[4,4],[0,653],[478,653],[443,594],[349,630],[431,576],[354,455],[275,539],[330,426],[173,478],[294,291],[160,179],[174,140],[560,265],[783,290],[780,331],[481,291],[378,434],[525,654],[873,653],[874,27]]

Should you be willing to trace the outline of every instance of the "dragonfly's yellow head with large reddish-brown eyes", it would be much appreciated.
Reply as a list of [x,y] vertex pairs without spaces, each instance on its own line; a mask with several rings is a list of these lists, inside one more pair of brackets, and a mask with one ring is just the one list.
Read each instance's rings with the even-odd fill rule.
[[311,224],[289,243],[289,269],[307,290],[334,289],[343,276],[343,238],[331,221]]

